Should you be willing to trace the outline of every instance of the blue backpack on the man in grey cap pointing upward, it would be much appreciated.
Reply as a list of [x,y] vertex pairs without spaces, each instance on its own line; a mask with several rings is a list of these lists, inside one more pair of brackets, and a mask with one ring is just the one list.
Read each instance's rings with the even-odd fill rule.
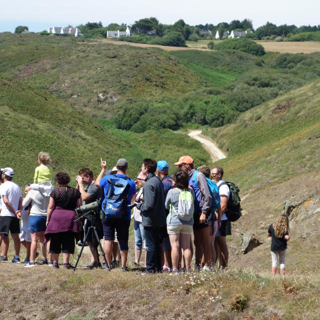
[[109,183],[104,202],[104,215],[108,218],[123,218],[126,214],[126,205],[130,184],[127,176],[119,177],[115,174],[107,181]]

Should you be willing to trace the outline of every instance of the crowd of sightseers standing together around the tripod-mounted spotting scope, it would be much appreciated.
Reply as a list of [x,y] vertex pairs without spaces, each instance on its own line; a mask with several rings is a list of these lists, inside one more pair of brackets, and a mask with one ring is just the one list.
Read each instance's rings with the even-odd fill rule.
[[[126,159],[118,159],[109,170],[106,170],[106,161],[100,159],[101,171],[97,177],[94,179],[90,168],[82,168],[75,178],[74,188],[68,185],[70,177],[66,172],[57,172],[53,177],[47,152],[40,152],[37,160],[39,166],[35,169],[33,183],[25,186],[24,198],[18,185],[12,181],[13,169],[1,169],[0,261],[7,261],[10,232],[15,250],[11,262],[20,262],[22,243],[26,248],[26,257],[22,261],[25,267],[47,264],[58,268],[62,252],[63,267],[73,268],[69,258],[75,250],[75,239],[85,245],[84,235],[93,232],[89,227],[94,224],[99,239],[102,239],[106,263],[99,260],[97,241],[92,242],[92,237],[88,236],[91,260],[85,267],[111,269],[120,261],[121,270],[125,271],[128,270],[129,225],[133,218],[134,264],[140,265],[141,253],[145,250],[142,273],[189,272],[193,256],[192,232],[194,269],[214,269],[217,261],[220,268],[227,266],[226,235],[231,234],[231,224],[225,212],[230,189],[223,180],[222,167],[210,169],[201,165],[195,168],[193,159],[184,155],[174,163],[175,173],[170,176],[167,161],[145,158],[134,180],[126,175]],[[212,196],[208,179],[217,185],[218,204],[214,203],[216,199]],[[75,208],[94,201],[98,205],[94,219],[86,215],[82,223],[76,222]],[[284,230],[283,223],[281,225]],[[268,232],[272,241],[273,236],[280,233],[272,226]],[[288,228],[283,234],[285,241],[288,240],[287,232]],[[38,242],[40,252],[37,252]],[[41,259],[35,263],[39,254]],[[275,259],[273,254],[272,260]],[[283,273],[283,254],[280,259]]]

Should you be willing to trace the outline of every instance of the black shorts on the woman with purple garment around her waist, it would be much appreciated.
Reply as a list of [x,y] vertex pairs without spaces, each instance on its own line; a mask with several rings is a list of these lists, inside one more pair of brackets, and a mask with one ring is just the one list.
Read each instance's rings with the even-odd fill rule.
[[59,254],[62,253],[74,253],[74,232],[65,231],[51,233],[50,249],[49,253]]

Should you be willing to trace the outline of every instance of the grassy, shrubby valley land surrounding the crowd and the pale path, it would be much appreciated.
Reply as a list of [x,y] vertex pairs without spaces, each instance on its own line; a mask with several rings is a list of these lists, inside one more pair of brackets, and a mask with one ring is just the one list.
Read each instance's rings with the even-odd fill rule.
[[[0,34],[0,50],[0,164],[14,168],[20,185],[32,179],[41,150],[71,177],[87,165],[96,174],[100,157],[109,167],[126,157],[132,177],[146,156],[168,160],[170,173],[182,154],[212,166],[187,136],[201,128],[227,154],[214,164],[243,198],[224,272],[140,275],[131,225],[128,272],[1,262],[2,318],[319,318],[319,53],[255,57],[32,34]],[[294,204],[287,276],[273,278],[266,230],[284,200]],[[242,254],[243,233],[262,244]],[[9,259],[13,253],[11,244]]]

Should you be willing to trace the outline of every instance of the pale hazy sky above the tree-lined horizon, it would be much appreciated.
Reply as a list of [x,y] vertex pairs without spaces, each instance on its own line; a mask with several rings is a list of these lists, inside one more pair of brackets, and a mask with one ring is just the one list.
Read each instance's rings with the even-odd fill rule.
[[0,0],[0,32],[26,25],[29,31],[49,26],[73,26],[87,21],[132,24],[155,16],[159,22],[172,24],[182,18],[190,25],[249,18],[257,28],[266,21],[279,24],[320,24],[320,1],[316,0]]

